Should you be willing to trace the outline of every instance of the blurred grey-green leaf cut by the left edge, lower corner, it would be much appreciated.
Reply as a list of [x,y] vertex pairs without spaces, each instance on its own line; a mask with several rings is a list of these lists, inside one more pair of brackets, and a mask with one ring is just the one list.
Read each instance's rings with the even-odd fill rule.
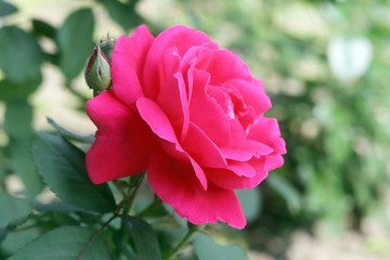
[[12,221],[24,218],[31,211],[27,200],[12,197],[4,191],[0,191],[0,227],[5,227]]

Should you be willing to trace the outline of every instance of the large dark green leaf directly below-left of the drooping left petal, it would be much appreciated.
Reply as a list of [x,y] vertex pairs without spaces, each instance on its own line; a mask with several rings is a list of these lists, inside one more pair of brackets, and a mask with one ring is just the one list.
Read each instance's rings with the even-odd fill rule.
[[37,133],[32,157],[43,181],[65,203],[96,212],[115,210],[108,185],[91,182],[84,166],[84,153],[64,138]]

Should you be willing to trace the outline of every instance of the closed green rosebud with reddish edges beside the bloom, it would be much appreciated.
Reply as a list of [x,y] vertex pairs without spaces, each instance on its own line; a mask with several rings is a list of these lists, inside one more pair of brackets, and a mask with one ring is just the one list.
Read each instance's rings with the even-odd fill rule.
[[94,95],[102,93],[112,86],[110,55],[114,46],[115,40],[109,36],[106,39],[100,40],[88,61],[84,77],[87,84],[93,90]]

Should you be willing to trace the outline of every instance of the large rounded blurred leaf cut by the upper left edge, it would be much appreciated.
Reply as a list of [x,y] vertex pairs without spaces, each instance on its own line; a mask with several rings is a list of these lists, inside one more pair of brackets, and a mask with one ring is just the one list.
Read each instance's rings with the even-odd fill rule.
[[0,28],[0,68],[14,83],[28,84],[40,76],[42,51],[31,34],[15,26]]

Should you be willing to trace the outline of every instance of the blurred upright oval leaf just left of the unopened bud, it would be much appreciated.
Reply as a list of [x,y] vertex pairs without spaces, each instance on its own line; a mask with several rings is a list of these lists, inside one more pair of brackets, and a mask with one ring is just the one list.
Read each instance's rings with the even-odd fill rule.
[[93,51],[94,18],[90,9],[72,13],[57,30],[60,67],[70,81],[83,69]]

